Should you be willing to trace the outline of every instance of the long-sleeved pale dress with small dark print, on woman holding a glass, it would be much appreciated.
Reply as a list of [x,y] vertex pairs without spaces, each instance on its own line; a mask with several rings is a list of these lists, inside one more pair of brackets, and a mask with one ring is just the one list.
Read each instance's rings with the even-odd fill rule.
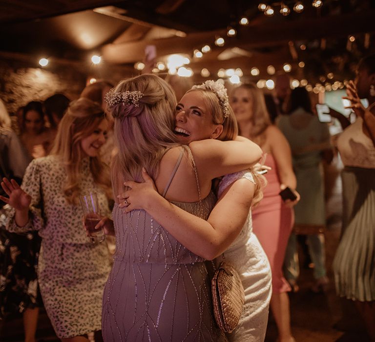
[[[37,230],[42,237],[38,280],[48,317],[59,338],[100,330],[102,295],[110,271],[106,244],[89,242],[82,209],[69,204],[62,192],[65,169],[57,156],[34,159],[22,189],[31,195],[30,220],[20,228],[10,214],[7,229]],[[104,191],[95,183],[89,158],[82,160],[82,193],[97,192],[101,214],[108,214]]]

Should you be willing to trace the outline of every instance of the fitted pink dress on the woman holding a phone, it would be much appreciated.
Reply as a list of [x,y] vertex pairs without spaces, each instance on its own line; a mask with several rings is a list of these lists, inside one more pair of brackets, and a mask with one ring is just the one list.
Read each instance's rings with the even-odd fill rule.
[[252,210],[253,232],[258,237],[271,265],[272,291],[275,293],[291,290],[283,276],[282,266],[285,249],[294,220],[293,210],[286,207],[279,195],[280,180],[273,156],[269,153],[264,163],[272,169],[266,173],[268,184],[263,189],[264,197]]

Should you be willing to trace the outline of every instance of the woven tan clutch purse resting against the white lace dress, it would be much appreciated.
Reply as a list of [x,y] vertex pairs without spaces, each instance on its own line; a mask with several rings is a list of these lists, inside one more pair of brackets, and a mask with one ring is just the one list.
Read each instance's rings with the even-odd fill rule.
[[237,271],[221,262],[211,280],[213,314],[219,328],[230,333],[240,320],[245,293]]

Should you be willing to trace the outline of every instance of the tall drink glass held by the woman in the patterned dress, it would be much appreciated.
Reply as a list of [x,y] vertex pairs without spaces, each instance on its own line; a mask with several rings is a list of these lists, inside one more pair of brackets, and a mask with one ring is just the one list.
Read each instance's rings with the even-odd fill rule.
[[80,202],[83,210],[84,224],[87,227],[90,241],[99,243],[104,241],[104,229],[95,229],[95,226],[101,220],[98,195],[96,192],[80,196]]

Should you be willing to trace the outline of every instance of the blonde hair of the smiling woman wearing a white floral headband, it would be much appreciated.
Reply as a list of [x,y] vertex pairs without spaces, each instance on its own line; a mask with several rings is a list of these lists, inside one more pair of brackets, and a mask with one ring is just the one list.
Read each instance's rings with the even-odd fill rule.
[[[211,113],[212,122],[216,125],[223,125],[223,131],[217,137],[217,139],[221,141],[229,141],[229,140],[235,139],[238,135],[238,125],[237,125],[236,117],[233,113],[232,108],[229,106],[228,108],[229,115],[226,118],[224,118],[223,108],[220,105],[220,101],[217,95],[212,90],[198,88],[198,89],[191,89],[187,92],[190,92],[190,91],[201,92],[203,96],[203,100],[205,101],[205,105],[207,106],[208,111]],[[267,180],[263,175],[253,170],[250,170],[250,171],[255,181],[254,194],[253,194],[252,201],[251,201],[251,207],[254,207],[263,198],[262,189],[267,185]]]

